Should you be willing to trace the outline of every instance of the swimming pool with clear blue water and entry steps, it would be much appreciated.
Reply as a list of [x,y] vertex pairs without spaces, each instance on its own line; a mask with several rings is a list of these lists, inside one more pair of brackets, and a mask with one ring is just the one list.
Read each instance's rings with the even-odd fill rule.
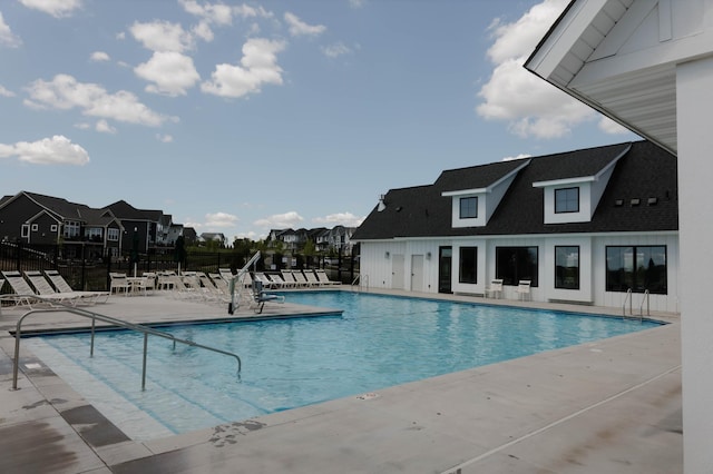
[[52,371],[135,440],[183,433],[543,350],[652,327],[656,323],[348,292],[286,295],[342,316],[164,328],[240,354],[235,361],[143,336],[57,335],[27,343]]

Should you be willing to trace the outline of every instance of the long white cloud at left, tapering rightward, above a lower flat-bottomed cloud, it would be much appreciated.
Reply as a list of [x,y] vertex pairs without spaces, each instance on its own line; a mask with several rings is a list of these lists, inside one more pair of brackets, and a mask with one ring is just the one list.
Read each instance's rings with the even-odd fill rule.
[[60,110],[79,108],[89,117],[149,127],[158,127],[169,119],[176,120],[150,110],[131,92],[119,90],[109,93],[101,86],[78,82],[68,75],[57,75],[50,82],[38,79],[26,90],[30,95],[30,99],[25,100],[28,107]]

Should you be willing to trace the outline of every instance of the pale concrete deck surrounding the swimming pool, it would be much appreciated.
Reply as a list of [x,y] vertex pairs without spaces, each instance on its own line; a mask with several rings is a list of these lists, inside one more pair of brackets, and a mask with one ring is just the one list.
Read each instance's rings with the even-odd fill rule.
[[[398,292],[382,292],[399,294]],[[411,295],[412,296],[412,295]],[[611,309],[422,295],[578,313]],[[229,318],[226,308],[167,297],[111,296],[88,307],[131,323]],[[221,425],[135,442],[14,338],[27,309],[0,314],[3,473],[662,473],[683,472],[681,342],[671,323]],[[265,305],[265,316],[320,308]],[[197,317],[196,315],[201,315]],[[233,318],[254,317],[241,308]],[[28,317],[23,333],[76,326],[68,313]],[[244,368],[245,369],[245,368]]]

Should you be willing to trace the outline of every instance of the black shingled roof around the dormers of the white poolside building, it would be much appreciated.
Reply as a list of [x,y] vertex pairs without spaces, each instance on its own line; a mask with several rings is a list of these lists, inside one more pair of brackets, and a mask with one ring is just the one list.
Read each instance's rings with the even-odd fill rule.
[[[595,176],[618,160],[589,223],[545,224],[544,189],[534,182]],[[485,227],[451,227],[451,197],[443,191],[484,188],[522,165],[504,161],[443,171],[430,186],[391,189],[385,209],[377,207],[352,240],[397,237],[531,235],[568,233],[653,231],[678,229],[676,158],[649,141],[619,144],[531,158],[521,169]],[[631,200],[641,199],[638,206]],[[647,205],[648,198],[657,198]],[[622,200],[622,205],[616,201]]]

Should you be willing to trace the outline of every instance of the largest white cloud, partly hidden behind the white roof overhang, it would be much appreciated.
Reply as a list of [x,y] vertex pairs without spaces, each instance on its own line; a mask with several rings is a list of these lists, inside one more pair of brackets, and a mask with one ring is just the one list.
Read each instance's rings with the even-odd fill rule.
[[538,41],[567,6],[567,0],[545,0],[512,23],[494,21],[495,42],[488,49],[492,76],[478,97],[478,113],[489,120],[505,120],[520,137],[557,138],[596,113],[579,101],[522,68]]

